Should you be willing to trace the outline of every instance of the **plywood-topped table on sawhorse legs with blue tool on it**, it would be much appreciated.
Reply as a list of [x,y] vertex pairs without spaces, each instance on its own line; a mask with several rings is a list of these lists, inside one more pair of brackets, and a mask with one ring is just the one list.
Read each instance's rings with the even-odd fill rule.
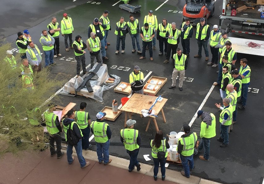
[[[143,117],[141,110],[142,109],[149,109],[153,105],[156,98],[157,98],[156,96],[150,96],[150,95],[145,95],[145,94],[136,94],[136,93],[133,94],[132,97],[130,97],[129,100],[125,103],[125,105],[120,108],[121,111],[126,112],[124,127],[126,127],[128,115],[129,115],[129,119],[132,119],[132,117],[131,117],[132,113],[140,114],[140,117]],[[164,123],[166,123],[166,118],[165,118],[164,111],[162,108],[165,105],[165,103],[167,102],[167,100],[168,99],[163,98],[163,100],[161,102],[157,102],[155,104],[155,106],[153,107],[153,110],[155,110],[155,112],[156,112],[155,115],[158,115],[159,112],[161,111]],[[149,104],[149,101],[152,101],[152,103]],[[150,118],[149,118],[149,122],[148,122],[148,125],[146,128],[146,132],[148,131],[149,124],[150,124],[151,120],[153,120],[155,127],[156,127],[156,130],[158,131],[159,128],[157,125],[156,116],[149,116],[149,117]]]

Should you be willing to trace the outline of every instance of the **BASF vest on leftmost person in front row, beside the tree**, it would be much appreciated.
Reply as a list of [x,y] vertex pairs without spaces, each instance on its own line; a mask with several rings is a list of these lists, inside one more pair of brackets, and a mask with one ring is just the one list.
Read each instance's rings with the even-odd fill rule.
[[58,116],[54,114],[53,112],[49,112],[49,111],[44,112],[43,118],[46,121],[46,127],[48,130],[48,133],[50,133],[51,135],[60,132],[55,123],[57,117]]

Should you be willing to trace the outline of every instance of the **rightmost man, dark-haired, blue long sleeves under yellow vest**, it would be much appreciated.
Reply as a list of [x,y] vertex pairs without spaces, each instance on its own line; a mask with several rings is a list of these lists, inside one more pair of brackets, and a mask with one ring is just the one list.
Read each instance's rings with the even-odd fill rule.
[[240,68],[239,68],[239,74],[242,77],[242,89],[241,89],[241,99],[238,101],[238,103],[242,103],[241,106],[238,107],[238,109],[245,109],[246,102],[247,102],[247,95],[248,95],[248,87],[250,84],[250,74],[251,69],[249,65],[247,65],[248,60],[246,58],[242,58],[240,60]]

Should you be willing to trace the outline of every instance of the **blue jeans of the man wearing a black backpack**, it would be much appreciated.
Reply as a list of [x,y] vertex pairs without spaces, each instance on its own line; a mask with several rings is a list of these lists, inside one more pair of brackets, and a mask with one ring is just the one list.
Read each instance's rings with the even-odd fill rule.
[[[82,156],[82,140],[79,140],[78,144],[74,146],[76,153],[77,153],[77,157],[78,160],[81,164],[81,167],[86,165],[86,161],[84,159],[84,157]],[[68,163],[71,164],[73,162],[73,158],[72,158],[72,154],[73,154],[73,146],[68,144],[67,147],[67,160]]]

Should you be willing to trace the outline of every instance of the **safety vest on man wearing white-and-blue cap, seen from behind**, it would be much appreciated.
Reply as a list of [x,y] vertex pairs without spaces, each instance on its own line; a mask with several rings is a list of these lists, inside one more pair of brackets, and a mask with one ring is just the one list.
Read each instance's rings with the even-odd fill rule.
[[98,143],[105,143],[108,140],[106,130],[109,125],[105,122],[93,121],[91,128],[94,131],[94,140]]

